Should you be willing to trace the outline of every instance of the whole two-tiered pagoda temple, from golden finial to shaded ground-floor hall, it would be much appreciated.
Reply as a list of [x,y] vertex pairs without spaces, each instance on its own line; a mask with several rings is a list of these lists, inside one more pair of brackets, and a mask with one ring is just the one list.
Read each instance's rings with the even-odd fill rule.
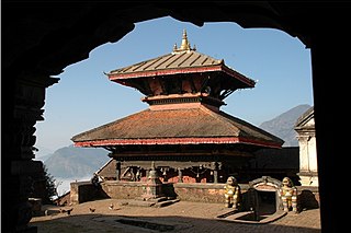
[[[225,183],[259,149],[284,141],[220,110],[236,90],[256,82],[196,51],[183,32],[170,54],[112,70],[107,78],[137,89],[149,107],[72,137],[76,147],[104,148],[104,179],[146,180],[151,166],[162,182]],[[151,165],[152,164],[152,165]]]

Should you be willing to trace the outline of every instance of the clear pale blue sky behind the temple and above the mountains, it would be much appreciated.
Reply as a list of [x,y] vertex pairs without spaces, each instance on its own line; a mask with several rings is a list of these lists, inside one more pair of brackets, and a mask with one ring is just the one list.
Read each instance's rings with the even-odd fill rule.
[[272,28],[242,28],[236,23],[199,27],[172,18],[137,23],[117,43],[93,49],[89,58],[65,68],[60,81],[46,89],[44,121],[36,124],[37,156],[72,144],[71,137],[144,110],[137,90],[114,83],[104,72],[156,58],[181,44],[186,30],[191,46],[257,81],[236,91],[220,109],[252,125],[313,103],[310,50],[296,37]]

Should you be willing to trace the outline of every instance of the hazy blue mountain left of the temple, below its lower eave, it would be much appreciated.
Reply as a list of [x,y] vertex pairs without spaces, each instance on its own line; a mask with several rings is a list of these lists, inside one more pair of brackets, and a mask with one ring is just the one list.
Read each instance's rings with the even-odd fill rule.
[[46,156],[44,164],[55,178],[92,176],[110,160],[107,153],[109,151],[104,149],[69,145]]

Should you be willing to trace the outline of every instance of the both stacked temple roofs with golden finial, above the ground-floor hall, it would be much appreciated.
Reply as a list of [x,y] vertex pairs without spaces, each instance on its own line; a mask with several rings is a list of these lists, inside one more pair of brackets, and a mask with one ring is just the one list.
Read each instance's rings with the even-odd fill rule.
[[[129,115],[75,136],[78,147],[158,144],[245,144],[280,148],[280,138],[230,116],[219,106],[237,89],[254,81],[191,48],[186,32],[173,51],[107,73],[110,80],[137,88],[150,104]],[[181,81],[180,81],[181,80]],[[174,84],[177,83],[177,85]],[[171,86],[171,88],[168,88]]]

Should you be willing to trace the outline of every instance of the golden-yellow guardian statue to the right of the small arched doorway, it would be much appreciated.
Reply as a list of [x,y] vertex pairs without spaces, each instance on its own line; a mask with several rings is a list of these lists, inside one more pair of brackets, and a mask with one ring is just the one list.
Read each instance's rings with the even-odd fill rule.
[[283,210],[285,212],[290,210],[297,212],[297,189],[291,178],[283,178],[279,195],[283,203]]

